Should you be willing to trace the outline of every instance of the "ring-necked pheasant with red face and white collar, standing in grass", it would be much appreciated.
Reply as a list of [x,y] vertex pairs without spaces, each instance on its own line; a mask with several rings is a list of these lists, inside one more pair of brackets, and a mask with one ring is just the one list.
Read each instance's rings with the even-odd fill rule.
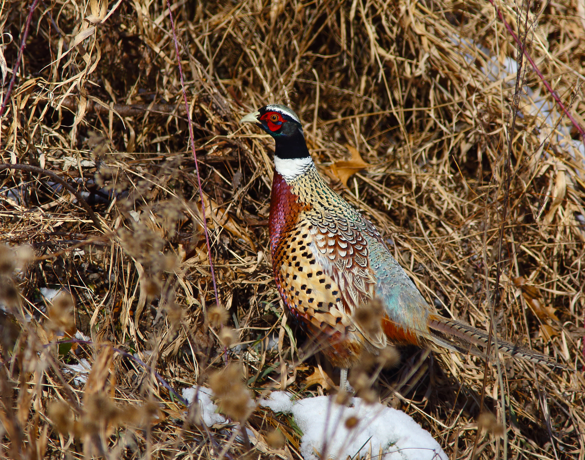
[[[487,345],[487,332],[442,317],[425,301],[371,222],[319,176],[290,108],[266,105],[240,122],[255,123],[276,142],[269,225],[278,292],[308,334],[325,342],[324,353],[342,369],[342,381],[364,350],[377,354],[387,343],[481,355],[476,346]],[[355,317],[373,298],[383,307],[377,329]],[[501,339],[497,347],[565,367]]]

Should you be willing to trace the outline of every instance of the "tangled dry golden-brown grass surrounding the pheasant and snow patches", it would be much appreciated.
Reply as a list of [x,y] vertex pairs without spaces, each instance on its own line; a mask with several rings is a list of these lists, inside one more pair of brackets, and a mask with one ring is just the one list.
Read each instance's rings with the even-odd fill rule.
[[[530,3],[527,22],[526,5],[498,7],[517,33],[528,27],[528,53],[585,125],[581,3]],[[15,40],[4,49],[9,66],[26,6],[1,6],[4,32]],[[494,7],[236,0],[173,8],[226,312],[211,311],[201,196],[166,3],[40,2],[1,119],[1,162],[57,174],[83,195],[99,225],[53,178],[0,172],[1,238],[13,248],[0,246],[2,455],[245,453],[246,439],[201,427],[154,370],[179,393],[206,383],[225,361],[241,363],[254,396],[274,387],[302,396],[329,391],[319,369],[312,373],[318,356],[300,358],[305,337],[271,276],[273,143],[238,124],[252,109],[283,102],[305,122],[322,174],[393,243],[429,302],[482,328],[493,313],[500,337],[579,369],[505,359],[484,376],[481,359],[407,349],[400,366],[377,380],[380,399],[411,414],[453,459],[471,458],[478,420],[486,428],[480,458],[585,459],[585,226],[578,221],[585,159],[557,134],[546,138],[551,128],[571,129],[567,118],[553,117],[547,128],[527,97],[512,129],[515,73],[504,81],[483,70],[492,57],[517,57]],[[531,67],[521,75],[554,104]],[[343,163],[332,165],[352,152],[369,166],[345,187]],[[50,305],[44,287],[73,300]],[[91,342],[56,344],[76,330]],[[267,348],[266,338],[277,346]],[[87,383],[64,367],[80,359],[92,365]],[[232,395],[236,412],[247,415],[246,390],[233,385],[241,393]],[[482,391],[497,419],[479,417]],[[503,416],[506,442],[498,435]],[[289,418],[260,409],[247,424],[260,440],[254,455],[299,457]],[[276,428],[284,448],[273,440]]]

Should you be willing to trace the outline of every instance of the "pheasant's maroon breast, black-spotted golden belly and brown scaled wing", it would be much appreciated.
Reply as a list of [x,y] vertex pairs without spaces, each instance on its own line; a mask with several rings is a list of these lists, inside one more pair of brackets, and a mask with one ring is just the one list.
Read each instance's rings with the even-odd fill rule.
[[[353,321],[357,307],[374,296],[376,279],[362,232],[335,212],[338,203],[331,195],[320,195],[318,187],[325,184],[318,175],[311,176],[288,184],[274,171],[270,207],[274,279],[292,315],[323,344],[334,365],[347,368],[364,348],[387,345],[384,334],[367,334]],[[377,234],[373,226],[369,230]]]

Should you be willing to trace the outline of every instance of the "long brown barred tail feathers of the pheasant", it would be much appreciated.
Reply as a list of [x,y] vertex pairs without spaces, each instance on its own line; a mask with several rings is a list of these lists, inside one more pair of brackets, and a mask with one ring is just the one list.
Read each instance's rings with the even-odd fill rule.
[[[473,355],[485,356],[481,353],[477,346],[487,346],[488,333],[481,329],[464,322],[449,320],[439,315],[429,316],[429,329],[431,329],[431,340],[439,346],[453,349],[456,351],[470,352]],[[492,345],[495,346],[496,341],[492,337]],[[514,357],[525,359],[533,363],[545,364],[552,368],[570,369],[567,366],[553,361],[552,358],[541,353],[532,351],[523,346],[517,346],[506,342],[500,338],[497,339],[498,350]]]

